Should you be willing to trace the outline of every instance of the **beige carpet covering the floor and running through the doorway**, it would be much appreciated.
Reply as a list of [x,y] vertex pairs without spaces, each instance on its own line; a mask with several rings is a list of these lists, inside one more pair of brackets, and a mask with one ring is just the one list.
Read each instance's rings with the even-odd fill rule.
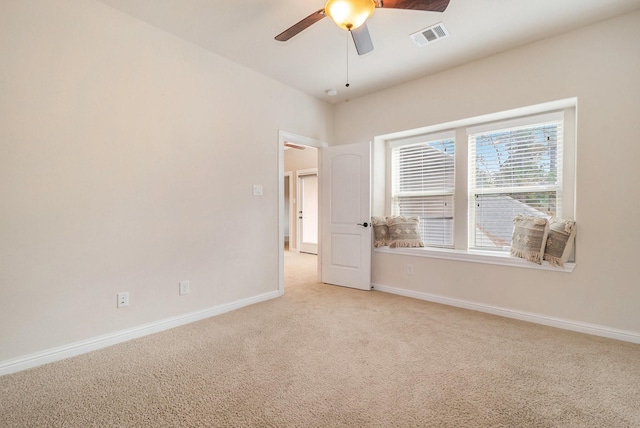
[[1,377],[0,426],[640,426],[638,345],[286,263],[280,299]]

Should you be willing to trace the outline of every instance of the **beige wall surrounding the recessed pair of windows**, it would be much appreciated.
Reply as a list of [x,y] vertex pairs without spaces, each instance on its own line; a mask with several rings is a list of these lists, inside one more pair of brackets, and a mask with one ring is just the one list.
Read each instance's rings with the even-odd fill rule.
[[[346,144],[578,99],[573,273],[378,253],[373,282],[640,337],[638,40],[635,12],[337,106],[335,140]],[[407,263],[413,276],[405,274]]]

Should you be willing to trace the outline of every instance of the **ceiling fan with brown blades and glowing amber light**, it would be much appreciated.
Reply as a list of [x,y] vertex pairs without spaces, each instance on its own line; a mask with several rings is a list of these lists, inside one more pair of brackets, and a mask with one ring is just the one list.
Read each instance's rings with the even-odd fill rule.
[[275,39],[285,42],[325,16],[329,16],[338,27],[351,33],[358,55],[364,55],[373,50],[366,20],[376,8],[444,12],[448,5],[449,0],[329,0],[323,9],[316,10],[287,28]]

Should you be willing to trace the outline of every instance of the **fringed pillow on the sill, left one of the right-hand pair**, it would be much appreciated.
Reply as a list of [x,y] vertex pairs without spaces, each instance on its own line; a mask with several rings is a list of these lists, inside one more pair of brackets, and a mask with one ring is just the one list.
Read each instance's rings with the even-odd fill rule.
[[511,255],[542,264],[548,233],[549,220],[545,217],[515,216]]

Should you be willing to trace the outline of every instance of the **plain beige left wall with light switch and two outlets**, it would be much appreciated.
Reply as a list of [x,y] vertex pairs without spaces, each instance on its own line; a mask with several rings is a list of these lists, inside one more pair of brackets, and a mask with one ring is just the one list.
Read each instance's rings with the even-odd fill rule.
[[0,363],[277,292],[278,131],[328,104],[93,0],[2,1],[0,58]]

